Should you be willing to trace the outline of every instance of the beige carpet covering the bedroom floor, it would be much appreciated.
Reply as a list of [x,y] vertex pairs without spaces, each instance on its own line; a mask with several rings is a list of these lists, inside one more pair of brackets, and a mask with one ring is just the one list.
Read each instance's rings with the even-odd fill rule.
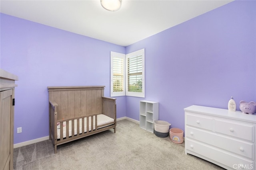
[[160,138],[129,120],[108,130],[57,147],[46,140],[14,149],[14,170],[220,170],[184,154],[184,143]]

